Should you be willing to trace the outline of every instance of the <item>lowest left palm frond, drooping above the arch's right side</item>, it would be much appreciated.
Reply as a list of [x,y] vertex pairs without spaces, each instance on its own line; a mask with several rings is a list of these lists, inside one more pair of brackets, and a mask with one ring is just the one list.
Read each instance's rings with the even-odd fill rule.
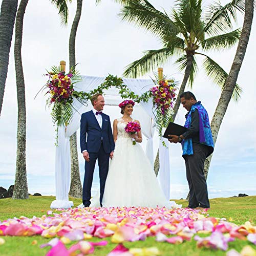
[[157,66],[163,65],[173,54],[173,49],[162,48],[159,50],[145,51],[142,58],[135,60],[126,66],[123,75],[125,77],[139,77],[153,71]]

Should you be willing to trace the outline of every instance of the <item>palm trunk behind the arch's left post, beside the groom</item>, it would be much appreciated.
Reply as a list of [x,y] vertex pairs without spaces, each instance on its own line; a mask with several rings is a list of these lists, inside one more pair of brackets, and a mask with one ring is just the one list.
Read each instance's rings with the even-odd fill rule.
[[[70,69],[75,68],[76,55],[75,55],[75,40],[76,32],[81,17],[82,0],[77,0],[76,15],[72,24],[70,38],[69,38],[69,66]],[[70,154],[71,154],[71,183],[69,195],[75,198],[82,198],[82,184],[79,173],[79,162],[77,155],[77,142],[76,132],[70,136]]]

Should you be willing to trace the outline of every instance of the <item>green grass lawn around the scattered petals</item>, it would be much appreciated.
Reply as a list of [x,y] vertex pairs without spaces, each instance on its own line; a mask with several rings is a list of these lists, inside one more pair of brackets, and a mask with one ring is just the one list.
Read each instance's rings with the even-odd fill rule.
[[[12,200],[1,199],[0,200],[0,221],[8,218],[26,216],[32,218],[33,216],[40,217],[47,214],[50,209],[51,202],[55,197],[33,197],[30,196],[27,200]],[[81,203],[81,200],[70,198],[74,202],[74,206]],[[187,206],[185,200],[175,200],[178,204],[182,204],[183,207]],[[253,225],[256,225],[256,196],[243,197],[243,198],[215,198],[210,200],[211,208],[208,210],[208,214],[211,217],[226,218],[236,224],[244,224],[246,221],[250,221]],[[230,219],[231,218],[231,219]],[[0,245],[0,255],[45,255],[50,247],[40,248],[41,244],[47,243],[50,239],[42,238],[40,236],[34,237],[2,237],[6,243]],[[37,244],[33,245],[33,241],[37,241]],[[110,239],[104,239],[110,242]],[[100,241],[100,239],[93,238],[90,241]],[[229,243],[229,249],[236,249],[241,251],[245,245],[251,245],[252,243],[247,241],[235,240]],[[69,247],[70,245],[68,245]],[[107,246],[96,247],[95,255],[108,254],[116,244],[109,243]],[[147,238],[145,241],[137,242],[125,242],[124,246],[128,248],[132,247],[151,247],[156,246],[161,252],[161,255],[226,255],[226,252],[221,250],[209,250],[198,249],[196,247],[196,241],[193,239],[190,242],[184,242],[180,245],[172,245],[168,243],[156,242],[154,237]]]

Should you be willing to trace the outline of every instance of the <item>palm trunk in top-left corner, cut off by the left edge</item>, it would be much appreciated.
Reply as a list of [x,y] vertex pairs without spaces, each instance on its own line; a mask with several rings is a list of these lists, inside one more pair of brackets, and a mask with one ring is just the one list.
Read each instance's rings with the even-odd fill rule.
[[0,116],[18,0],[3,0],[0,14]]

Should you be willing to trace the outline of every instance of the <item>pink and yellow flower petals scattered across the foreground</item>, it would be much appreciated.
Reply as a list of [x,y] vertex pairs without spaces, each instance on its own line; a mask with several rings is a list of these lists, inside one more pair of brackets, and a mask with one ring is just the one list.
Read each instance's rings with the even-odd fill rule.
[[[206,234],[206,237],[200,237]],[[159,255],[157,247],[126,248],[125,241],[155,237],[157,242],[181,244],[194,239],[197,247],[227,250],[235,239],[256,244],[256,226],[246,222],[236,225],[226,219],[209,217],[207,210],[188,208],[110,207],[73,208],[48,211],[40,218],[14,218],[0,222],[0,236],[36,236],[52,238],[41,247],[50,246],[48,256],[86,255],[107,241],[89,242],[92,237],[111,238],[117,246],[109,253],[115,255]],[[76,241],[69,249],[65,244]],[[0,238],[0,246],[5,240]],[[248,247],[246,247],[248,250]],[[252,251],[255,250],[250,247]],[[61,254],[59,254],[61,253]],[[242,253],[242,252],[241,252]],[[228,255],[242,255],[230,250]]]

